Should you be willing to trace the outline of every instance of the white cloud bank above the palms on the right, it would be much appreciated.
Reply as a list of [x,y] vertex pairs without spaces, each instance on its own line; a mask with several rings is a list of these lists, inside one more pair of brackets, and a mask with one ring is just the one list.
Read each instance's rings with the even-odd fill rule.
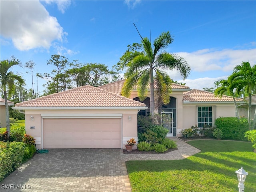
[[233,70],[234,66],[241,64],[243,61],[249,61],[250,64],[256,64],[256,49],[247,50],[215,50],[203,49],[195,52],[178,52],[178,54],[188,61],[191,70],[204,72],[210,70]]

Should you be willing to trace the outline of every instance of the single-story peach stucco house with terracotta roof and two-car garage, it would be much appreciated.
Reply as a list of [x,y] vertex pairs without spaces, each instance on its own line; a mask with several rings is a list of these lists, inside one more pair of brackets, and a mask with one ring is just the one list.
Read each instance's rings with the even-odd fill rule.
[[[125,98],[120,95],[123,84],[82,86],[18,103],[14,109],[25,111],[26,133],[36,138],[37,148],[124,148],[130,138],[138,140],[137,115],[148,114],[150,93],[140,101],[134,87]],[[164,127],[174,137],[192,125],[213,125],[219,116],[236,116],[232,97],[218,98],[179,84],[172,84],[170,103],[157,111],[170,119]]]

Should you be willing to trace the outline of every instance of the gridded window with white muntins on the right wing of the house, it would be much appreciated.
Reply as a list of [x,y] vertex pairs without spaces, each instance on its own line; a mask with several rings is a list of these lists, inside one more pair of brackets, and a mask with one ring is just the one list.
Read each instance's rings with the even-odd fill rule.
[[204,127],[205,124],[212,126],[212,106],[198,106],[197,114],[198,127]]

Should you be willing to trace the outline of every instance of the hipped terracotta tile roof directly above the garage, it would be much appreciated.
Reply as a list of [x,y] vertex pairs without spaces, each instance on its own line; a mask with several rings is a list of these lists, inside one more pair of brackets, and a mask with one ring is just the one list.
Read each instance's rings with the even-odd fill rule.
[[81,86],[63,92],[18,103],[15,107],[144,107],[144,103],[115,95],[93,86]]

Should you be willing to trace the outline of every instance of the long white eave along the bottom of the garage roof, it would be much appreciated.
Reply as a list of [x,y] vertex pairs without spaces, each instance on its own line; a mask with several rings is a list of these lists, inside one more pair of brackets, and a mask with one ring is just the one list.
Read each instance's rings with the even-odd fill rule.
[[12,107],[14,110],[144,110],[148,107]]

